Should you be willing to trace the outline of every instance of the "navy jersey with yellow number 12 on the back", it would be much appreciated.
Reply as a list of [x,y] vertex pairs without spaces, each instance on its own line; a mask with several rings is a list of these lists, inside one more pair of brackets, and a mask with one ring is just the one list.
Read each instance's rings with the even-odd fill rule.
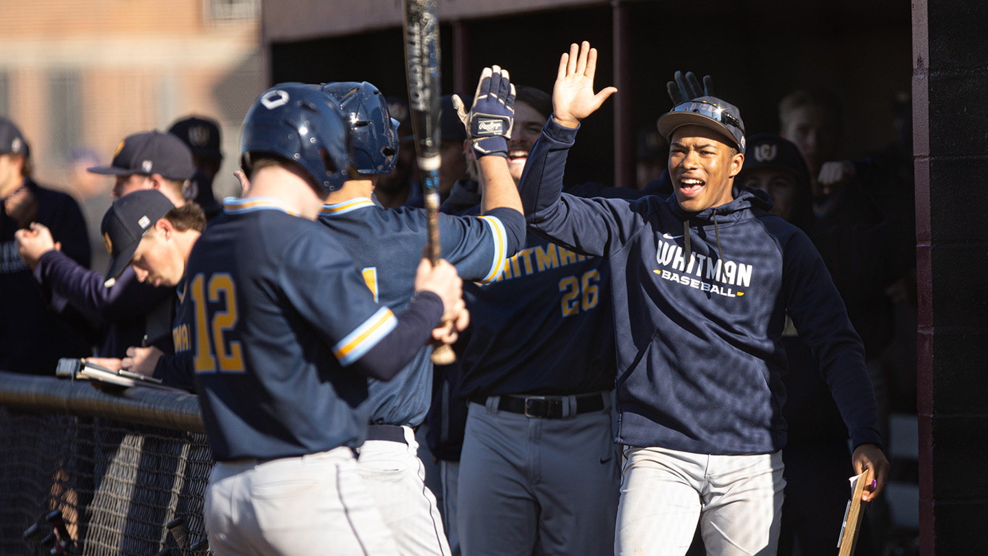
[[227,200],[223,212],[193,248],[184,304],[216,459],[361,445],[367,379],[344,367],[397,319],[326,227],[273,199]]

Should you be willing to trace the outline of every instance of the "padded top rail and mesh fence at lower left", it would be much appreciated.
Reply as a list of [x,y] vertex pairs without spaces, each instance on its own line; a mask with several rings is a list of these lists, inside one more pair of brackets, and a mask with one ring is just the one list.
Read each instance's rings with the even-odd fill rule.
[[203,537],[212,453],[199,401],[150,388],[0,371],[0,554],[34,556],[23,538],[61,510],[75,554],[177,556],[165,523]]

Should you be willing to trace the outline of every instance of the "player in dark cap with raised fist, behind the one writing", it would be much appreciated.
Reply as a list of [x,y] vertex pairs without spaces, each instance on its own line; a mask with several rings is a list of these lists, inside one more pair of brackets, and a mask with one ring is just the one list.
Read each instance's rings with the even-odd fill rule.
[[[178,138],[152,131],[124,138],[113,161],[89,169],[116,176],[114,199],[142,189],[161,192],[175,206],[185,204],[183,188],[196,171],[192,153]],[[20,238],[20,254],[35,267],[41,287],[50,289],[52,303],[71,305],[91,321],[105,326],[97,355],[124,357],[130,346],[148,344],[171,350],[175,291],[140,284],[125,268],[116,280],[65,257],[55,248],[51,233],[42,226]]]

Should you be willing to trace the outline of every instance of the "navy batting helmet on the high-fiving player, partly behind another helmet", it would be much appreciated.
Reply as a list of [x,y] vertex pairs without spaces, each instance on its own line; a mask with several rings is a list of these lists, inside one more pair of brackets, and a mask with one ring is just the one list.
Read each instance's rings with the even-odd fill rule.
[[340,103],[354,143],[354,166],[362,174],[389,174],[398,154],[398,121],[387,102],[367,81],[327,83],[322,90]]

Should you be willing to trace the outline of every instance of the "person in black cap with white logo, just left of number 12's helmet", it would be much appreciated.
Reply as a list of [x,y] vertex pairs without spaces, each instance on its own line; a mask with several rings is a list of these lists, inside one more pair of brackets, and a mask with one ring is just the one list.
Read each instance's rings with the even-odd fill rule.
[[190,116],[172,124],[168,133],[186,143],[196,164],[196,175],[189,180],[185,198],[195,201],[203,208],[206,219],[212,220],[222,210],[212,193],[212,182],[223,164],[219,124],[211,118]]

